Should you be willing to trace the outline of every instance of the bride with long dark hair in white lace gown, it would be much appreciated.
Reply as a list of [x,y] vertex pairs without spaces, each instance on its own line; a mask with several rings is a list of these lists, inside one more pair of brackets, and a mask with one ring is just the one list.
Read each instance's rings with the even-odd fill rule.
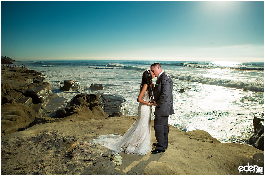
[[155,74],[151,70],[143,72],[142,83],[140,85],[140,93],[137,101],[138,118],[128,129],[128,131],[120,136],[118,134],[101,135],[98,139],[90,141],[92,144],[100,144],[110,149],[112,153],[132,153],[133,155],[145,155],[152,148],[150,146],[150,124],[152,113],[152,96],[154,83],[152,79]]

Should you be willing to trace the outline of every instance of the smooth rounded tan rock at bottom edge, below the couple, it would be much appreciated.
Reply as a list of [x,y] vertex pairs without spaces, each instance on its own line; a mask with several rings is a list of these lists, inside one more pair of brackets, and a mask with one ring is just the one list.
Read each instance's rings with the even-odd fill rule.
[[179,175],[179,174],[169,165],[157,161],[151,161],[145,167],[143,175]]

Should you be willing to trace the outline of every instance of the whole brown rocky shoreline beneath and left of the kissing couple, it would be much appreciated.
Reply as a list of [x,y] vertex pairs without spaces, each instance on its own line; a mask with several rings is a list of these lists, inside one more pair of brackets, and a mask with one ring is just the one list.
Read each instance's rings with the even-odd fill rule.
[[[42,76],[33,70],[1,69],[2,175],[242,175],[241,165],[264,168],[262,150],[173,126],[165,152],[120,153],[122,164],[115,167],[110,150],[89,141],[127,131],[137,117],[126,116],[124,98],[78,94],[64,109],[47,116],[42,106],[35,109],[52,96]],[[151,137],[155,143],[153,121]]]

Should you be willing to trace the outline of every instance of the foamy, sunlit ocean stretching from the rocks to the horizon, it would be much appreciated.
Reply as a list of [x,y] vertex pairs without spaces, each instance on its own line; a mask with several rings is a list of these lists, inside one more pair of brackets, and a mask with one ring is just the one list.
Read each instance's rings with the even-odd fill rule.
[[[247,144],[254,133],[254,114],[264,111],[264,62],[89,60],[16,64],[42,72],[53,93],[67,99],[62,106],[79,93],[120,94],[128,104],[128,115],[137,116],[142,74],[154,62],[173,79],[175,114],[169,116],[170,125],[183,131],[207,131],[222,143]],[[67,79],[79,81],[80,87],[59,91]],[[104,89],[91,90],[91,84],[103,84]],[[181,88],[185,92],[180,93]]]

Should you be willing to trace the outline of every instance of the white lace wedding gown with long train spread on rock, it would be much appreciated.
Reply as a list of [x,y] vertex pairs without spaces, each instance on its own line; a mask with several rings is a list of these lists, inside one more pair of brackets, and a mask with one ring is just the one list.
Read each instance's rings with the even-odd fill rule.
[[[148,91],[145,91],[142,99],[149,101]],[[103,145],[112,153],[124,151],[127,154],[145,155],[152,149],[150,145],[151,113],[152,106],[140,103],[138,118],[123,136],[118,134],[101,135],[98,139],[91,140],[90,143]]]

